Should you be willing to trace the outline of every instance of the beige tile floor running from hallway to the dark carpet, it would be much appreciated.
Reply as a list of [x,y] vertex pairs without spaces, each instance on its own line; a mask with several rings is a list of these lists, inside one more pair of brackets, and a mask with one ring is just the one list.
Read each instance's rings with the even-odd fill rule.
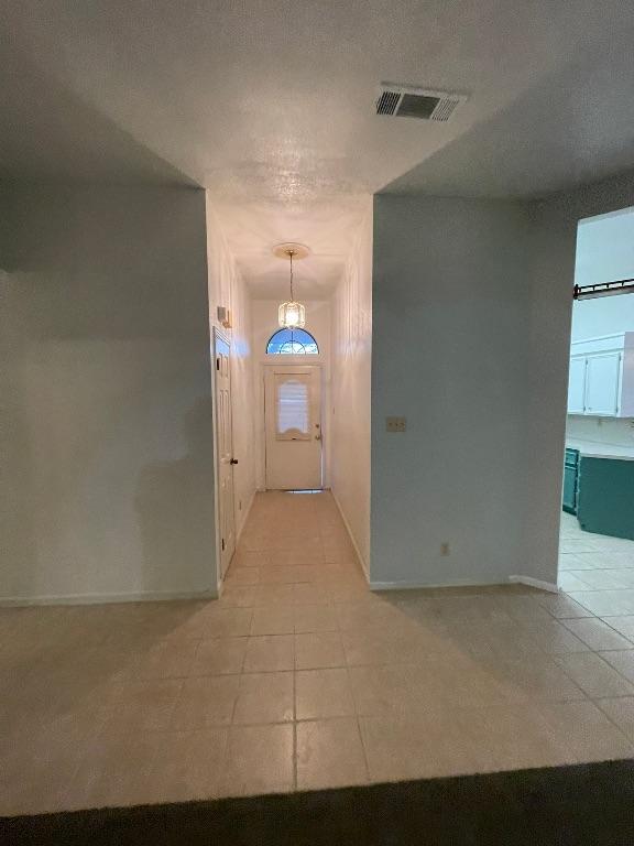
[[330,495],[259,495],[218,601],[0,611],[0,814],[631,757],[626,593],[373,595]]

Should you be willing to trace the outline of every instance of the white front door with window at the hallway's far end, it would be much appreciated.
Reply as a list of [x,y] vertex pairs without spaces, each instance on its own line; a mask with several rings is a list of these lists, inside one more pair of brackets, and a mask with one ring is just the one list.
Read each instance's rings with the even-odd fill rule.
[[321,384],[319,367],[265,370],[266,487],[321,487]]

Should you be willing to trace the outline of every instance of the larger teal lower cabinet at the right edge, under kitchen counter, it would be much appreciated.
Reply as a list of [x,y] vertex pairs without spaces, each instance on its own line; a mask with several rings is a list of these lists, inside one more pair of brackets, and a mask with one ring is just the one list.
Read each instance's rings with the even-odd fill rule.
[[582,455],[577,518],[587,532],[634,540],[634,460]]

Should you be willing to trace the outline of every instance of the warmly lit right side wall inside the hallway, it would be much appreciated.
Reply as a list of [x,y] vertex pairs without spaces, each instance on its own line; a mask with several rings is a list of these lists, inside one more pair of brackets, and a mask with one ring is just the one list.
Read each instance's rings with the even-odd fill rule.
[[370,574],[372,200],[332,300],[331,486]]

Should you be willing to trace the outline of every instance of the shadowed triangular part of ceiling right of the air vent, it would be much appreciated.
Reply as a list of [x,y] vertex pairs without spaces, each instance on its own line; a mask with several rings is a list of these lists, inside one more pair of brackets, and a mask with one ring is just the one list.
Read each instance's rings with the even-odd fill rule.
[[583,51],[385,191],[534,197],[634,166],[633,40]]

